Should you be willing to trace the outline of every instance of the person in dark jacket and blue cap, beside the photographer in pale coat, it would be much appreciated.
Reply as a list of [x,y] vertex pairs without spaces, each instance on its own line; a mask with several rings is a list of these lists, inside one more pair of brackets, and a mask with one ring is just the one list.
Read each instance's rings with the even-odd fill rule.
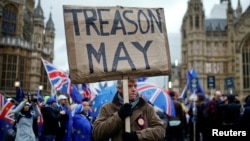
[[67,118],[65,111],[59,111],[55,98],[49,97],[46,105],[41,107],[43,115],[43,141],[55,141],[60,129],[60,119]]

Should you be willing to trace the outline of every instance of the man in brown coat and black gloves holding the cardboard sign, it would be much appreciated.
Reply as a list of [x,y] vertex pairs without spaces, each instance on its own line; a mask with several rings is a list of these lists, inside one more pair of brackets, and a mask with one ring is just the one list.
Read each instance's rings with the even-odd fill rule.
[[[105,104],[94,122],[95,140],[112,141],[162,141],[165,128],[154,108],[139,97],[137,80],[128,79],[129,103],[124,103],[123,81],[117,82],[117,93],[113,101]],[[130,116],[131,132],[125,132],[125,118]]]

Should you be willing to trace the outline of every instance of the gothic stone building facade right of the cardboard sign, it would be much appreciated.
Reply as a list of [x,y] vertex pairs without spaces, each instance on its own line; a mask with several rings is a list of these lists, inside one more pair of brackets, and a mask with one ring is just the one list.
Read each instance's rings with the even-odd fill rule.
[[[219,2],[219,1],[218,1]],[[181,27],[181,88],[186,72],[194,68],[207,94],[207,77],[215,77],[215,89],[227,94],[225,78],[232,78],[232,92],[243,99],[250,94],[250,6],[242,11],[231,0],[220,0],[205,17],[202,0],[189,0]]]

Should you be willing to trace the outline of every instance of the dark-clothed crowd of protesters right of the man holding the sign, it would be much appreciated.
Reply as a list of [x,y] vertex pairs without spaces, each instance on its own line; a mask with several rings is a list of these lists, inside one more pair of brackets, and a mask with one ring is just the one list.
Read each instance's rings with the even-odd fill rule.
[[[173,91],[170,96],[175,101],[176,117],[168,117],[168,120],[180,121],[180,124],[168,125],[167,141],[211,141],[218,139],[213,135],[215,129],[245,131],[247,137],[250,134],[250,95],[243,103],[237,95],[222,94],[221,91],[215,91],[212,98],[197,94],[187,101],[178,99]],[[229,134],[223,136],[240,136]],[[248,140],[247,137],[244,139]]]

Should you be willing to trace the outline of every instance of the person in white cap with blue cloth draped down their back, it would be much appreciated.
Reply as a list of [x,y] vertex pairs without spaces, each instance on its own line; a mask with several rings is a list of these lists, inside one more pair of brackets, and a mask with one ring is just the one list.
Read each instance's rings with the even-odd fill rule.
[[57,98],[58,108],[65,112],[64,118],[60,118],[60,128],[57,131],[56,141],[69,141],[72,136],[72,113],[68,97],[61,94]]

